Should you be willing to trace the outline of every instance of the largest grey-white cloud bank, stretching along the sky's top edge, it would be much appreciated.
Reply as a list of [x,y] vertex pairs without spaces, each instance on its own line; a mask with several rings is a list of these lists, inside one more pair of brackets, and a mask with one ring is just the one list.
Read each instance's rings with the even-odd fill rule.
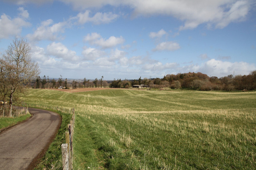
[[126,5],[133,9],[133,17],[138,15],[170,15],[184,22],[180,30],[194,29],[200,24],[208,27],[223,28],[230,22],[241,21],[246,18],[253,0],[62,0],[71,4],[75,9],[89,9],[112,5],[114,7]]

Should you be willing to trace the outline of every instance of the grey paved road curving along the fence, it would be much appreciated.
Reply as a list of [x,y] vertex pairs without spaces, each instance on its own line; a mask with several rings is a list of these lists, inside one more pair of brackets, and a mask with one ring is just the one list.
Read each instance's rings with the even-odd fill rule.
[[31,169],[43,156],[61,124],[57,113],[29,108],[34,116],[0,132],[0,170]]

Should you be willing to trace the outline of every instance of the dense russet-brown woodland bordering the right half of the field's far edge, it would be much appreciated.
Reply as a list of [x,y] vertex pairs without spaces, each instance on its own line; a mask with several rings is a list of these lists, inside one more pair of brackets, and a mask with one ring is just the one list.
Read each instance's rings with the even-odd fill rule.
[[179,73],[179,74],[167,74],[163,78],[148,79],[134,79],[123,80],[114,79],[110,88],[131,88],[133,85],[147,85],[149,88],[171,88],[171,89],[194,89],[201,91],[210,90],[256,90],[256,70],[249,75],[237,75],[232,74],[225,77],[209,77],[201,72],[197,73]]

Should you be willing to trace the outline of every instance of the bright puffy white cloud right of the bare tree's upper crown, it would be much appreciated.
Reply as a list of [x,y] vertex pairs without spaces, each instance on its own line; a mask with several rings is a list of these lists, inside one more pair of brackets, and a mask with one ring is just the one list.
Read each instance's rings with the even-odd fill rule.
[[47,52],[49,55],[57,58],[62,58],[68,61],[78,61],[80,58],[76,55],[76,52],[69,50],[62,43],[51,43],[47,46]]

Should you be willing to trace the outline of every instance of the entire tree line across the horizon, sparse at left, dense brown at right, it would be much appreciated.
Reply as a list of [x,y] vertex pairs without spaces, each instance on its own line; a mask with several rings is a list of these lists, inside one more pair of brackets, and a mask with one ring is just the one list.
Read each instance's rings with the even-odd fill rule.
[[112,81],[103,80],[103,76],[94,80],[84,78],[83,81],[68,81],[63,80],[62,76],[59,79],[49,79],[44,76],[43,79],[38,77],[33,84],[33,88],[132,88],[134,85],[145,85],[149,88],[161,89],[194,89],[201,91],[210,90],[256,90],[256,70],[249,75],[237,75],[232,74],[225,77],[209,77],[201,72],[197,73],[179,73],[179,74],[167,74],[163,78],[144,78],[141,77],[134,80],[121,80],[114,79]]

